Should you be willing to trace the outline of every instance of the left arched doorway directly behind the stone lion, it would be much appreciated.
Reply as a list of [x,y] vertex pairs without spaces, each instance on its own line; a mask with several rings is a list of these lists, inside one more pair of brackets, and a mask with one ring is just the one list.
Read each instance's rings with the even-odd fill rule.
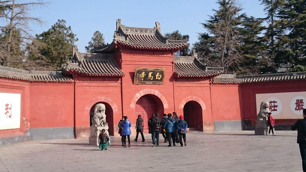
[[108,123],[108,133],[110,134],[110,136],[114,136],[114,112],[110,104],[106,102],[97,102],[91,107],[89,111],[89,124],[90,126],[92,125],[91,118],[94,115],[95,105],[98,103],[103,103],[105,105],[105,115],[106,115],[106,122]]

